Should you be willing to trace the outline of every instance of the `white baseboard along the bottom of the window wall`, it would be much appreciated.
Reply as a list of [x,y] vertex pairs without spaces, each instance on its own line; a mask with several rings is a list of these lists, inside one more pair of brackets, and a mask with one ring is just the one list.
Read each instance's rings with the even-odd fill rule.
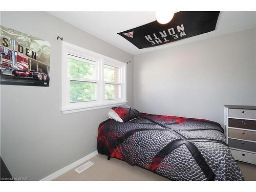
[[53,179],[59,177],[62,174],[65,174],[66,172],[68,172],[69,170],[71,170],[72,168],[75,168],[76,166],[82,164],[83,162],[88,161],[89,159],[93,158],[94,156],[98,155],[98,152],[95,151],[77,161],[75,161],[74,163],[71,163],[70,165],[63,167],[59,170],[57,170],[57,172],[45,177],[44,179],[41,179],[40,181],[52,181]]

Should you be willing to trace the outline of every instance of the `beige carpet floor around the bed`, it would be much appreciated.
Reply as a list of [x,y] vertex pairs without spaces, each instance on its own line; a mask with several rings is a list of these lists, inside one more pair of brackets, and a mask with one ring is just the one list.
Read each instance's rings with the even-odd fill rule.
[[[143,168],[131,166],[124,161],[115,158],[108,160],[104,155],[97,155],[89,161],[92,161],[94,165],[82,173],[76,173],[75,167],[54,181],[168,181],[164,177]],[[243,162],[238,162],[238,164],[246,181],[256,181],[255,165]]]

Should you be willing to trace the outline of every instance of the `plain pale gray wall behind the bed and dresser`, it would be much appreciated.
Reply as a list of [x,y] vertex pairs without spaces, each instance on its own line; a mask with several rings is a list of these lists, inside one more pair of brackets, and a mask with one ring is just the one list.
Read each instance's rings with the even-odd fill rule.
[[255,29],[134,56],[140,112],[224,124],[224,104],[255,105]]

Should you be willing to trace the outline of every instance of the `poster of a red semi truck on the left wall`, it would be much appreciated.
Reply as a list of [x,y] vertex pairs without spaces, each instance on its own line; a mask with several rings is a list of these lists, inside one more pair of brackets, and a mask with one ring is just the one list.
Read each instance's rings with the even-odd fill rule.
[[4,26],[0,32],[1,84],[49,87],[50,43]]

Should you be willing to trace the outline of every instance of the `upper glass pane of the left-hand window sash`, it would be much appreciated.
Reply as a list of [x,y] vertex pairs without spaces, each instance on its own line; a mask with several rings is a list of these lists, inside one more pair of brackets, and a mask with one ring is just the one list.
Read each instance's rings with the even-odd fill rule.
[[95,65],[87,59],[68,58],[68,75],[79,79],[95,79]]

